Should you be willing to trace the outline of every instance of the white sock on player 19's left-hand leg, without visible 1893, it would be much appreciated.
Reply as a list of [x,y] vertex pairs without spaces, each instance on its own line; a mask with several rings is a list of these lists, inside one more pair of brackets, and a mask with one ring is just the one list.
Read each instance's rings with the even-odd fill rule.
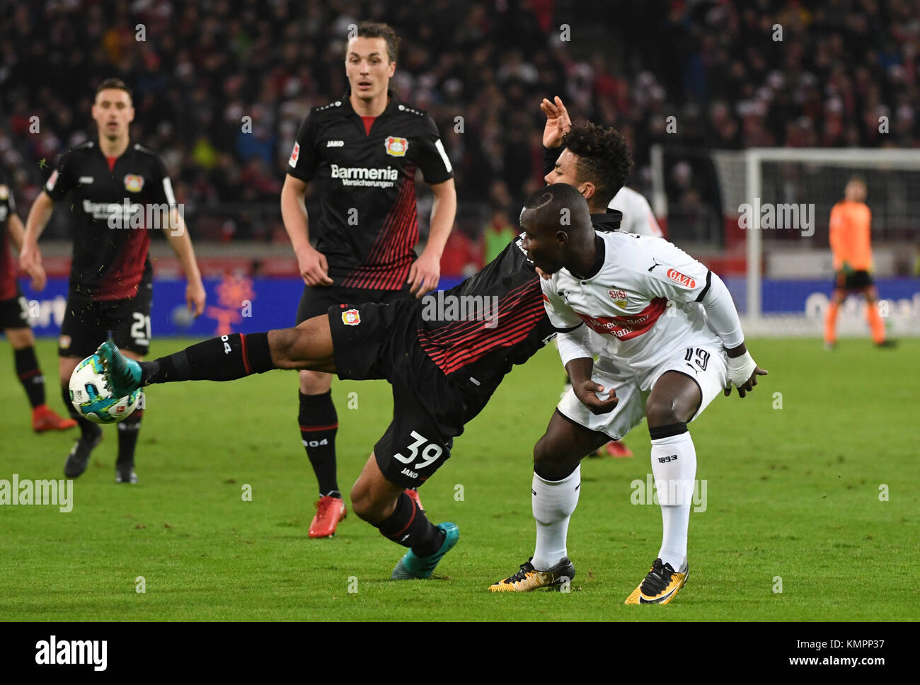
[[547,481],[534,474],[531,492],[536,519],[536,547],[531,564],[537,571],[546,571],[569,555],[566,536],[581,492],[581,464],[561,481]]

